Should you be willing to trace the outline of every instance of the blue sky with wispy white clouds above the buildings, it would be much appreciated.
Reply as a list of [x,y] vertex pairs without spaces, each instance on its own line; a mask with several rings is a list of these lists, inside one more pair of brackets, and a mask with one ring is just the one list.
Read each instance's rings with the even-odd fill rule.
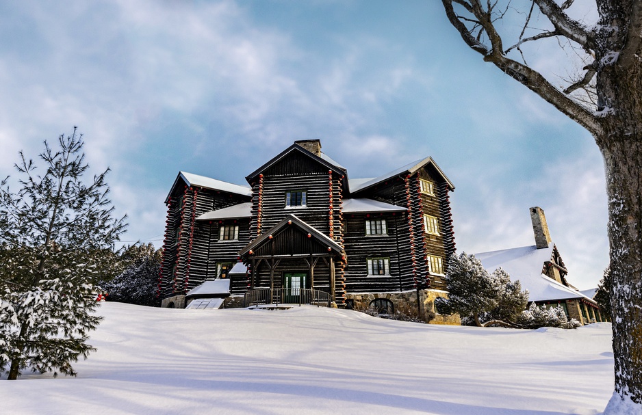
[[[245,184],[318,138],[352,178],[431,155],[458,250],[532,245],[541,206],[572,283],[608,263],[593,138],[467,49],[439,1],[2,2],[0,38],[0,176],[79,126],[126,241],[161,244],[179,170]],[[532,51],[565,73],[556,44]]]

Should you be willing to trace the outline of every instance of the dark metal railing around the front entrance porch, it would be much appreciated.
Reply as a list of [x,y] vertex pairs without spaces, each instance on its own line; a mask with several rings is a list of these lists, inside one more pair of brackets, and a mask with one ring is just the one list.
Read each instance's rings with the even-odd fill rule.
[[313,289],[253,289],[245,293],[244,306],[279,306],[279,304],[311,304],[330,307],[329,293]]

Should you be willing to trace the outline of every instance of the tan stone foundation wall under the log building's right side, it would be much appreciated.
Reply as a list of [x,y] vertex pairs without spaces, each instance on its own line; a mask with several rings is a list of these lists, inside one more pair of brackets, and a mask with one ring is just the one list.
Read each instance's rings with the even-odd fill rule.
[[398,293],[347,293],[346,298],[352,299],[356,310],[363,310],[370,307],[370,303],[377,298],[389,300],[394,306],[395,312],[401,312],[413,317],[419,317],[426,323],[431,324],[461,324],[459,315],[446,316],[437,314],[435,310],[435,298],[448,297],[446,291],[420,290],[420,304],[417,305],[417,291],[402,291]]

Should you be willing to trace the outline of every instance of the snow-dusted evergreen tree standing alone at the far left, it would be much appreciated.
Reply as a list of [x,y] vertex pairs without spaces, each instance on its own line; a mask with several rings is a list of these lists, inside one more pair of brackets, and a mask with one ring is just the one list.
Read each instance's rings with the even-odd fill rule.
[[82,135],[47,141],[40,159],[20,152],[17,193],[0,183],[0,370],[16,379],[26,368],[76,375],[71,366],[94,348],[88,332],[99,324],[92,282],[116,259],[114,242],[125,230],[107,198],[107,169],[89,183]]

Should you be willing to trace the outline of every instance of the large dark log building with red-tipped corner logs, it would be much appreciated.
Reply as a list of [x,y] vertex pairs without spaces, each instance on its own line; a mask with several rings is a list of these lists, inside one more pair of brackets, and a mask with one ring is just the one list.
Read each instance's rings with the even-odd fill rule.
[[305,140],[246,180],[179,172],[166,198],[163,306],[184,307],[202,291],[194,289],[220,279],[229,279],[224,307],[257,288],[320,290],[339,307],[419,304],[420,312],[444,295],[454,185],[431,157],[349,179],[319,140]]

